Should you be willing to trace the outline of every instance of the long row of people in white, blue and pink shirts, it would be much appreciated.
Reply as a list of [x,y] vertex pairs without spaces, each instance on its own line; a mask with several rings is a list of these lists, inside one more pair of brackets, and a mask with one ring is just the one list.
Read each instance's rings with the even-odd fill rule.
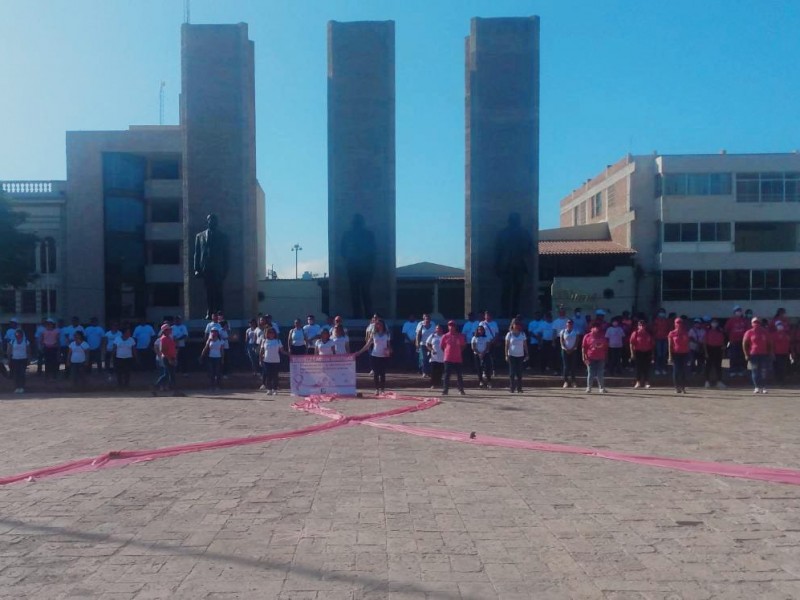
[[[605,393],[606,376],[631,374],[633,387],[649,389],[654,377],[672,375],[676,393],[685,393],[690,373],[701,374],[706,388],[723,388],[722,364],[729,361],[728,378],[752,379],[754,393],[767,393],[767,381],[784,383],[787,373],[800,363],[800,328],[793,326],[784,309],[772,318],[754,316],[736,306],[724,321],[709,316],[689,318],[659,309],[652,319],[629,312],[608,318],[597,309],[585,315],[574,309],[570,315],[559,307],[556,316],[536,313],[527,324],[513,318],[507,330],[490,311],[468,315],[459,325],[449,320],[437,324],[431,315],[421,320],[410,316],[400,328],[401,362],[430,380],[431,389],[448,394],[451,380],[464,394],[465,364],[477,377],[480,388],[491,388],[497,367],[507,365],[508,390],[523,393],[523,379],[537,374],[560,375],[563,388],[578,387],[586,378],[585,392],[595,387]],[[361,336],[357,336],[359,341]],[[199,360],[208,371],[210,386],[218,389],[230,370],[232,340],[238,332],[222,313],[205,327]],[[284,341],[285,339],[285,341]],[[282,357],[298,354],[368,353],[377,393],[386,391],[386,374],[393,356],[391,332],[374,315],[363,334],[365,343],[351,349],[350,336],[340,316],[317,323],[296,319],[281,337],[281,328],[270,315],[252,319],[241,336],[252,373],[261,378],[260,390],[278,393]],[[69,378],[76,389],[91,373],[116,379],[120,388],[130,386],[131,372],[158,369],[153,393],[182,395],[177,376],[188,375],[186,353],[189,331],[180,317],[165,318],[156,329],[151,323],[111,323],[105,329],[96,318],[82,324],[73,317],[69,324],[45,319],[28,339],[12,319],[3,336],[15,392],[24,393],[30,364],[46,380]],[[0,368],[5,369],[2,362]]]

